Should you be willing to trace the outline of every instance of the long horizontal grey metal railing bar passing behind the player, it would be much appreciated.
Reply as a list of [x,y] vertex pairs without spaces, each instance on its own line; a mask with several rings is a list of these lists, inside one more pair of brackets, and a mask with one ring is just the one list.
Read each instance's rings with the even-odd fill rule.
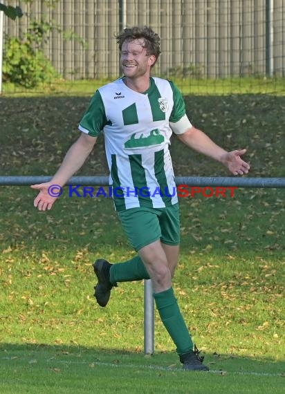
[[[35,185],[48,182],[52,176],[0,176],[1,186]],[[247,178],[237,176],[177,176],[176,185],[200,187],[285,187],[285,178]],[[68,185],[107,186],[108,176],[73,176]]]

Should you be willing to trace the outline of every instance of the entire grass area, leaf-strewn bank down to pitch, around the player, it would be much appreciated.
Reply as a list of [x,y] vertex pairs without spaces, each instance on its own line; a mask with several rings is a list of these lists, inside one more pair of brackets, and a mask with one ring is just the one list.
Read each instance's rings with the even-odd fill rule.
[[[187,113],[249,176],[284,177],[284,95],[188,95]],[[208,92],[205,92],[208,93]],[[83,95],[0,97],[1,175],[52,175],[77,138]],[[79,174],[107,174],[100,138]],[[177,176],[228,176],[172,143]],[[91,263],[134,255],[110,198],[33,208],[29,187],[0,187],[0,393],[284,393],[284,189],[181,198],[176,297],[210,373],[184,373],[156,314],[143,355],[143,283],[93,299]]]

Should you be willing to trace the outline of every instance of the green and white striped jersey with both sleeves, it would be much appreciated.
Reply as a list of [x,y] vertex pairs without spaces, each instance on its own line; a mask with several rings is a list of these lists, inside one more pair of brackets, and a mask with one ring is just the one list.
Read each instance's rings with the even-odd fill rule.
[[170,137],[189,127],[183,97],[165,79],[151,77],[144,93],[128,88],[122,78],[96,91],[79,129],[93,136],[104,131],[116,210],[178,202]]

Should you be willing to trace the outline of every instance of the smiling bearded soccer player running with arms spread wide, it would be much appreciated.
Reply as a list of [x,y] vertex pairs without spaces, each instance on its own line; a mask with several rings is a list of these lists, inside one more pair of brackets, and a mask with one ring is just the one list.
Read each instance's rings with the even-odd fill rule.
[[151,77],[160,55],[160,37],[148,28],[125,28],[116,36],[123,77],[95,92],[83,115],[81,135],[50,182],[39,189],[34,205],[51,209],[50,185],[64,186],[82,167],[104,131],[113,200],[129,242],[138,254],[124,263],[99,259],[93,264],[95,299],[106,306],[118,282],[151,279],[156,308],[185,370],[209,370],[187,330],[172,288],[178,261],[179,208],[169,140],[172,133],[187,147],[210,156],[234,175],[248,173],[246,149],[225,151],[192,126],[175,84]]

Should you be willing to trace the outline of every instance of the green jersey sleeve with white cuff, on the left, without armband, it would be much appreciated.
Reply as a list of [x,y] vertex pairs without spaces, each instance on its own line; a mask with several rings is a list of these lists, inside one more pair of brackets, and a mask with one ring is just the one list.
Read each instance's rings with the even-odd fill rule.
[[84,113],[78,129],[92,137],[97,137],[107,124],[107,117],[100,91],[96,91]]

